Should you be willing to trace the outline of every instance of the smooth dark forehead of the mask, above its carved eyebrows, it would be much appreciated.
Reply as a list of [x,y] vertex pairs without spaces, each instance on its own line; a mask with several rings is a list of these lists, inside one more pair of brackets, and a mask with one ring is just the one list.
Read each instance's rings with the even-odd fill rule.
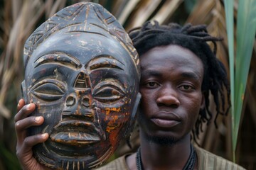
[[81,63],[87,63],[87,61],[100,55],[108,55],[122,63],[128,64],[127,67],[135,67],[131,54],[127,52],[119,40],[95,33],[65,32],[55,33],[43,41],[33,51],[28,65],[36,64],[44,55],[55,53],[65,53],[74,56]]

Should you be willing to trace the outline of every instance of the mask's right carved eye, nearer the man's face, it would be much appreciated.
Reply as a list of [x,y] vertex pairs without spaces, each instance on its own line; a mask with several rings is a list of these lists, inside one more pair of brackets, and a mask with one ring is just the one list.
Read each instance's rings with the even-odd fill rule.
[[111,103],[124,97],[124,92],[117,86],[106,85],[96,89],[94,98],[102,103]]

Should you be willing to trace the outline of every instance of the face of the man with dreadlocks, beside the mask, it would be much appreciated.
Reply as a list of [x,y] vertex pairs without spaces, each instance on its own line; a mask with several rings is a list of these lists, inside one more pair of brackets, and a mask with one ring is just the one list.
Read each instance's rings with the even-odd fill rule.
[[203,63],[178,45],[154,47],[140,57],[142,137],[171,145],[183,139],[204,105]]

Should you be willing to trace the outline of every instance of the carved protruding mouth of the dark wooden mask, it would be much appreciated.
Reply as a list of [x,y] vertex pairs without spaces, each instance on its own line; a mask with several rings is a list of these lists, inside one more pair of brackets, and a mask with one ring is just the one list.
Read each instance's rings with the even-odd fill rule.
[[105,140],[105,135],[93,123],[81,120],[64,120],[55,125],[50,140],[64,145],[90,145]]

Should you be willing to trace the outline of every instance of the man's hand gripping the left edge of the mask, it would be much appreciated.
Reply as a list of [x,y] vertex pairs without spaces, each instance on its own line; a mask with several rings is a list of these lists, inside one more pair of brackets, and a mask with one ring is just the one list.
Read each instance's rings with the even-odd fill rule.
[[15,130],[17,136],[16,155],[23,169],[47,169],[46,166],[39,164],[33,157],[32,147],[38,143],[45,142],[49,135],[48,133],[27,136],[27,130],[31,126],[42,125],[42,116],[28,116],[36,108],[34,103],[28,105],[21,99],[18,101],[18,113],[14,117]]

